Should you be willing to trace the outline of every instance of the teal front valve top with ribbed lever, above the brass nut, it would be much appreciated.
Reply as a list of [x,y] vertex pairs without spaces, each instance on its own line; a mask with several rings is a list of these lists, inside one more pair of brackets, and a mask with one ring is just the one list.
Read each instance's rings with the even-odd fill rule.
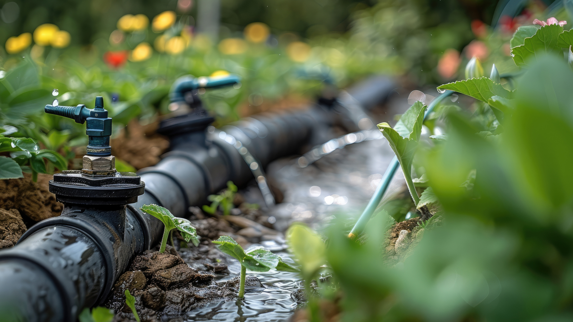
[[76,107],[46,105],[44,112],[68,117],[68,119],[80,124],[87,121],[88,124],[85,127],[85,133],[88,135],[86,155],[111,156],[109,136],[111,135],[112,120],[111,117],[108,117],[108,111],[104,109],[103,97],[96,97],[94,109],[88,109],[83,104]]

